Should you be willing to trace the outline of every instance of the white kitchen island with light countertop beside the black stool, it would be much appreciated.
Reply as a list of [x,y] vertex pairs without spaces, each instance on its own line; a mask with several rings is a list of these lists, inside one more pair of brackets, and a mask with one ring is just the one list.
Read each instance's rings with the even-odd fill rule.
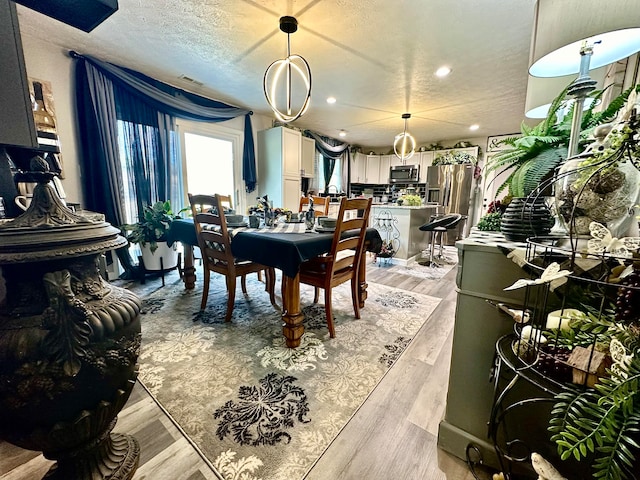
[[394,255],[391,263],[407,265],[422,256],[429,244],[429,234],[419,230],[431,217],[441,214],[439,205],[408,207],[394,204],[371,206],[369,225],[380,232],[383,242],[391,243]]

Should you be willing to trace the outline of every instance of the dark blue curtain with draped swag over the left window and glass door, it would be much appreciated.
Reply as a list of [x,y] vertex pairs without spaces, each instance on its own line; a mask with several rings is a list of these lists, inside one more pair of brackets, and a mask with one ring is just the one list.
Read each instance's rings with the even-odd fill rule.
[[[145,205],[184,201],[182,164],[175,120],[222,122],[245,116],[243,179],[256,186],[250,112],[216,102],[98,59],[70,52],[76,59],[78,129],[86,206],[119,226],[127,222],[125,198],[140,214]],[[118,137],[125,141],[120,151]],[[130,175],[123,175],[130,169]],[[126,183],[125,178],[132,179]],[[119,252],[120,256],[121,252]],[[128,257],[128,255],[127,255]],[[129,271],[131,260],[122,258]]]

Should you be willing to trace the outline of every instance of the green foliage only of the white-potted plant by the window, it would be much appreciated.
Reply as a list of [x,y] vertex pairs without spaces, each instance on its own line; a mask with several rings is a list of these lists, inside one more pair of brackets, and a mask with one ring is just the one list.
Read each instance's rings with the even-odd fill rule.
[[144,207],[142,218],[137,223],[126,224],[121,228],[125,232],[129,232],[126,234],[127,240],[143,247],[148,243],[149,249],[153,253],[158,249],[158,242],[166,241],[171,222],[175,218],[180,218],[180,213],[186,210],[187,208],[182,209],[178,215],[174,215],[169,200],[158,201]]

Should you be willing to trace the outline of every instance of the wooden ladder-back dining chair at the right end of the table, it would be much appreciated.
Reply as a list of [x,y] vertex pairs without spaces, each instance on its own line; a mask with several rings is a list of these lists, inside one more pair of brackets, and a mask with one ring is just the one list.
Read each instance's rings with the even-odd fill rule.
[[[370,198],[343,198],[329,253],[315,257],[300,266],[300,283],[315,287],[313,303],[318,303],[319,290],[324,289],[324,309],[329,336],[336,335],[331,310],[331,289],[351,281],[351,300],[356,318],[360,318],[358,269],[364,252],[364,240],[371,210]],[[345,232],[349,231],[348,235]]]

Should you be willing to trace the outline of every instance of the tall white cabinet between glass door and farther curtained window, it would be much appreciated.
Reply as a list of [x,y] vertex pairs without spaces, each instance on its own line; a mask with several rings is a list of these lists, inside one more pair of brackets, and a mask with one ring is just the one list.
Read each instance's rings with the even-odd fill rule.
[[258,192],[269,195],[274,207],[298,211],[302,135],[275,127],[258,132]]

